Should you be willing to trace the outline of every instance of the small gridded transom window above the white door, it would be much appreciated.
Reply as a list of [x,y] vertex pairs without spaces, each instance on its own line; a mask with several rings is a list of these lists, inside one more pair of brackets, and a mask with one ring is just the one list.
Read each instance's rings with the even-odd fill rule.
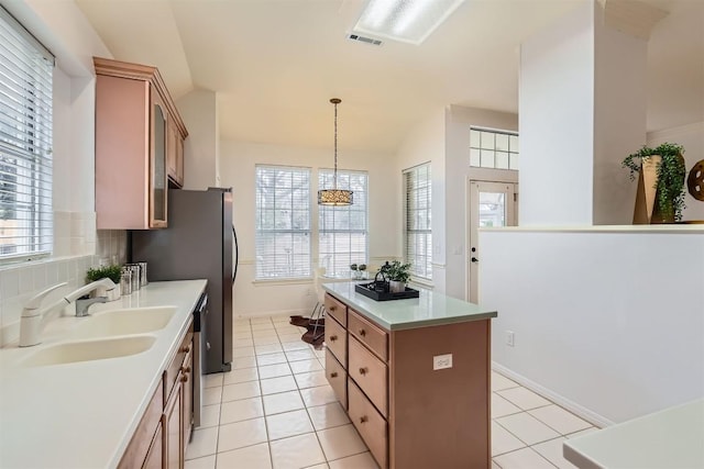
[[518,169],[518,134],[470,127],[470,166]]

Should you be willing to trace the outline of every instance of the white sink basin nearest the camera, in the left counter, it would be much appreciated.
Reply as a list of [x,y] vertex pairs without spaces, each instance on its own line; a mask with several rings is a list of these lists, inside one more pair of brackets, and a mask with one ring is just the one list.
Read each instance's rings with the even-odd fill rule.
[[154,342],[156,342],[156,337],[151,335],[67,342],[42,348],[28,357],[24,364],[31,367],[42,367],[127,357],[148,350]]

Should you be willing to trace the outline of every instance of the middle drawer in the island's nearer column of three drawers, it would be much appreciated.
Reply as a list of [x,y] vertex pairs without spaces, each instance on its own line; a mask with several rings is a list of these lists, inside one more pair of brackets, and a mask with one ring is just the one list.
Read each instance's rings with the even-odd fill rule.
[[356,338],[350,337],[348,373],[382,413],[388,415],[388,370],[386,364],[366,349]]

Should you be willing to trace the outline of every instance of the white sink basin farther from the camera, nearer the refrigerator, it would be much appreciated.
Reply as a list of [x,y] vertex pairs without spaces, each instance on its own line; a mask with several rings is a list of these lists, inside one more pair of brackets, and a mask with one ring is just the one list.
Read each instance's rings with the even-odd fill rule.
[[81,319],[70,334],[73,338],[110,337],[144,334],[166,327],[176,306],[133,308],[112,310]]

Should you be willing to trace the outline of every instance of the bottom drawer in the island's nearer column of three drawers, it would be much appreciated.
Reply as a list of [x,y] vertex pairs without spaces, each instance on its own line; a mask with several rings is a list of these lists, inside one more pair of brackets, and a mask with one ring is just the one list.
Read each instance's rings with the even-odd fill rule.
[[349,380],[348,392],[350,420],[380,467],[387,468],[388,434],[386,433],[386,421],[352,380]]

